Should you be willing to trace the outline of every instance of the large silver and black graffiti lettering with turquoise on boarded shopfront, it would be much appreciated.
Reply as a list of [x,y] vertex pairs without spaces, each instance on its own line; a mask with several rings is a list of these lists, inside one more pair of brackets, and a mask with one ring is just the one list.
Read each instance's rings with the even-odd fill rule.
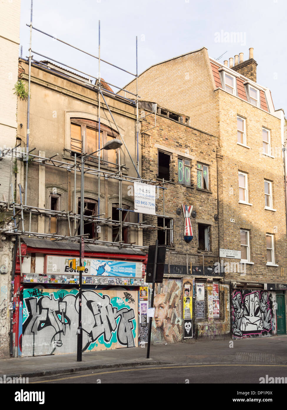
[[[33,292],[36,289],[33,289]],[[23,291],[22,355],[74,353],[77,348],[77,289]],[[83,351],[137,345],[137,293],[82,292]]]

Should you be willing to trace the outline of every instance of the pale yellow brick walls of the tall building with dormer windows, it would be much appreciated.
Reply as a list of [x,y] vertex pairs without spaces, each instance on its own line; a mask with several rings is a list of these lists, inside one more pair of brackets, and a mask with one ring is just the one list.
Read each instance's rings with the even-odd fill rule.
[[[168,109],[183,112],[190,116],[192,127],[217,137],[217,142],[214,140],[212,147],[209,147],[209,153],[215,156],[217,163],[215,178],[217,178],[218,189],[219,248],[244,251],[240,234],[242,230],[246,232],[245,234],[242,232],[242,235],[249,236],[250,253],[249,263],[246,264],[240,264],[238,259],[221,258],[223,263],[230,264],[229,270],[226,269],[224,273],[224,282],[229,284],[231,289],[242,286],[244,289],[246,287],[264,289],[264,286],[266,289],[267,287],[266,291],[272,293],[271,296],[269,295],[272,325],[270,321],[269,326],[273,326],[276,332],[278,292],[285,293],[285,303],[287,302],[284,290],[287,289],[287,238],[281,141],[284,124],[282,118],[280,120],[281,114],[274,110],[268,89],[251,83],[255,89],[258,87],[259,103],[256,107],[251,104],[251,101],[249,102],[250,97],[246,99],[237,91],[235,95],[225,91],[222,76],[217,76],[217,80],[221,78],[221,87],[218,82],[216,84],[212,64],[214,65],[210,62],[206,48],[156,64],[139,76],[139,93],[143,98]],[[225,69],[224,66],[222,69]],[[251,80],[255,79],[252,73],[240,70],[238,72],[245,73]],[[186,75],[188,81],[185,80],[183,73],[188,73]],[[233,74],[230,69],[228,73]],[[237,78],[237,90],[238,82],[242,84],[243,90],[247,87],[244,83],[250,84],[246,78],[238,77],[235,71],[234,78]],[[135,91],[135,82],[129,83],[127,89]],[[262,96],[264,104],[262,104]],[[237,144],[237,116],[245,122],[244,144]],[[263,128],[269,134],[268,155],[264,155],[267,148],[265,146],[263,149]],[[165,129],[165,132],[168,134],[165,144],[169,144],[169,139],[174,144],[173,134],[168,132],[168,129]],[[160,130],[157,138],[159,135]],[[154,167],[156,158],[153,155],[150,157],[151,166]],[[176,167],[175,163],[174,166]],[[248,200],[245,203],[240,203],[239,172],[246,178],[248,187]],[[272,187],[271,209],[264,209],[264,181]],[[175,196],[172,195],[170,203],[174,206],[173,198]],[[208,206],[210,205],[212,209],[211,202],[208,203]],[[271,246],[272,250],[267,251],[267,239],[271,241],[270,235],[273,238],[273,246]],[[179,247],[184,247],[182,239],[177,238],[177,240],[179,240]],[[273,253],[272,262],[267,262],[267,252],[269,259]],[[264,294],[264,291],[262,292]],[[256,294],[256,297],[258,295]],[[262,294],[260,295],[258,298],[262,297]],[[268,334],[266,332],[262,335]]]

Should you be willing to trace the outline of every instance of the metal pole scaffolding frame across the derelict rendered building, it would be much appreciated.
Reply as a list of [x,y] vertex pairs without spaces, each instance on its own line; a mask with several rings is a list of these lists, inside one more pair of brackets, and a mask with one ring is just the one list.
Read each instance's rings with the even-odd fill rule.
[[[136,37],[136,74],[131,73],[130,71],[125,70],[124,68],[121,68],[119,66],[116,66],[115,64],[112,64],[110,62],[107,62],[103,59],[101,59],[100,57],[100,21],[99,21],[99,46],[98,46],[98,52],[99,52],[99,56],[97,57],[96,55],[93,55],[89,52],[86,52],[85,50],[81,50],[80,48],[73,46],[70,43],[67,43],[66,41],[63,41],[61,39],[56,38],[55,36],[46,33],[36,27],[34,27],[32,25],[32,14],[33,14],[33,0],[31,0],[31,20],[30,20],[30,24],[27,24],[27,26],[30,28],[30,43],[29,43],[29,56],[27,56],[28,62],[29,62],[29,69],[28,69],[28,100],[27,100],[27,139],[26,139],[26,146],[27,146],[27,156],[26,159],[24,159],[24,161],[26,162],[26,175],[25,175],[25,190],[22,189],[21,186],[19,186],[19,192],[20,192],[20,203],[15,203],[14,201],[14,195],[13,195],[13,187],[12,187],[12,181],[11,181],[11,176],[12,176],[12,166],[13,166],[13,148],[12,149],[12,155],[11,155],[11,166],[10,166],[10,184],[9,184],[9,197],[8,197],[8,201],[0,201],[0,210],[2,211],[10,211],[13,213],[12,217],[8,217],[7,221],[6,221],[6,225],[10,224],[10,226],[7,226],[7,228],[0,228],[0,233],[5,234],[5,235],[25,235],[25,236],[34,236],[34,237],[40,237],[40,238],[50,238],[53,240],[69,240],[69,241],[79,241],[80,238],[83,236],[84,237],[84,241],[86,243],[93,243],[93,244],[106,244],[108,246],[119,246],[121,247],[131,247],[131,248],[148,248],[147,246],[141,246],[141,245],[135,245],[135,244],[125,244],[124,241],[122,240],[122,228],[123,227],[136,227],[138,228],[138,230],[142,229],[147,229],[147,230],[165,230],[165,238],[167,237],[166,233],[167,230],[171,230],[172,228],[167,228],[165,227],[165,195],[164,195],[164,191],[165,189],[167,189],[165,187],[165,184],[168,183],[169,181],[165,181],[163,180],[163,182],[159,182],[159,181],[154,181],[154,180],[148,180],[148,179],[142,179],[140,174],[139,174],[139,134],[140,134],[140,122],[139,122],[139,115],[138,115],[138,109],[139,109],[139,95],[138,95],[138,38]],[[84,71],[80,71],[77,68],[74,68],[72,66],[68,66],[67,64],[64,64],[62,62],[59,62],[55,59],[52,59],[50,57],[47,57],[46,55],[40,53],[40,52],[36,52],[34,50],[32,50],[32,30],[35,30],[37,32],[40,32],[41,34],[44,34],[46,36],[52,37],[54,40],[59,41],[71,48],[74,48],[78,51],[81,51],[83,53],[85,53],[86,55],[89,55],[90,57],[93,57],[95,59],[98,60],[99,63],[99,75],[95,76],[95,75],[90,75],[85,73]],[[32,53],[44,57],[46,59],[48,59],[49,61],[39,61],[37,59],[34,58],[34,56],[32,55]],[[60,70],[54,69],[52,70],[53,73],[57,73],[57,74],[63,74],[65,75],[65,77],[73,82],[77,82],[81,85],[83,85],[84,87],[88,87],[90,89],[92,89],[93,91],[95,91],[98,95],[98,150],[95,152],[97,153],[97,156],[93,156],[92,154],[87,154],[84,153],[84,144],[82,144],[83,146],[83,153],[81,155],[76,155],[75,152],[68,150],[67,148],[64,148],[65,150],[70,151],[70,153],[74,154],[74,162],[72,163],[72,159],[71,162],[65,162],[65,161],[60,161],[58,159],[55,159],[55,157],[57,157],[57,155],[59,154],[55,154],[52,157],[43,157],[41,155],[34,155],[32,154],[32,152],[36,149],[33,148],[32,150],[29,150],[29,135],[30,135],[30,121],[29,121],[29,117],[30,117],[30,92],[31,92],[31,68],[32,68],[32,64],[34,67],[42,67],[48,70],[51,70],[51,66],[55,66],[55,64],[50,63],[50,60],[57,63],[57,64],[61,64],[61,66],[64,66],[66,68],[60,67],[60,66],[56,66],[57,68],[59,68]],[[32,63],[33,62],[33,63]],[[134,99],[132,98],[127,98],[126,96],[119,96],[118,94],[114,93],[113,91],[107,90],[104,87],[102,87],[102,83],[101,83],[101,73],[100,73],[100,69],[101,69],[101,62],[108,64],[110,66],[113,66],[115,68],[118,68],[121,71],[124,71],[125,73],[128,73],[130,75],[133,75],[133,77],[136,78],[136,94],[132,93],[131,91],[128,91],[126,89],[122,89],[121,87],[118,87],[114,84],[108,83],[105,81],[106,84],[111,85],[112,87],[117,88],[120,91],[124,91],[125,95],[126,93],[128,93],[129,95],[131,95],[132,97],[135,97]],[[69,70],[67,70],[67,68],[72,69],[74,72],[71,72]],[[76,73],[75,73],[76,71]],[[80,74],[77,73],[81,73],[86,75],[87,77],[83,77]],[[93,80],[95,80],[95,84],[93,84]],[[133,161],[133,158],[131,156],[131,154],[129,153],[129,149],[124,141],[124,138],[122,137],[122,134],[120,132],[120,129],[118,128],[118,125],[113,117],[113,114],[111,113],[111,110],[108,106],[108,103],[106,102],[105,96],[110,96],[111,98],[116,98],[117,100],[132,104],[136,107],[136,136],[135,136],[135,141],[136,141],[136,150],[137,150],[137,161],[136,164]],[[101,118],[101,97],[102,100],[104,101],[104,105],[106,106],[104,109],[108,110],[112,121],[116,127],[116,129],[118,130],[118,133],[120,135],[120,138],[122,140],[122,143],[124,144],[124,147],[127,150],[127,153],[131,159],[131,162],[133,164],[134,169],[136,170],[137,173],[137,177],[131,177],[128,175],[123,175],[122,170],[123,169],[127,169],[127,167],[125,166],[125,164],[121,164],[120,162],[120,149],[118,150],[118,163],[112,163],[112,162],[108,162],[106,160],[101,159],[100,157],[100,132],[101,132],[101,122],[100,122],[100,118]],[[95,100],[96,101],[96,100]],[[103,108],[102,108],[103,109]],[[150,114],[155,114],[155,126],[156,126],[156,109],[154,109],[153,107],[153,111],[150,112],[147,115]],[[154,127],[153,127],[154,128]],[[84,138],[85,136],[83,136]],[[18,144],[20,145],[20,144]],[[11,151],[11,150],[10,150]],[[77,158],[79,157],[83,157],[84,159],[82,160],[82,162],[80,163],[79,160],[77,162]],[[95,167],[92,168],[90,166],[86,166],[85,164],[85,159],[86,158],[92,158],[95,162]],[[54,166],[57,168],[61,168],[61,169],[65,169],[66,171],[74,171],[74,210],[75,212],[71,212],[71,211],[55,211],[55,210],[49,210],[47,208],[39,208],[39,207],[35,207],[32,205],[27,205],[27,184],[28,184],[28,160],[31,160],[31,162],[34,163],[38,163],[44,166]],[[101,169],[101,164],[111,164],[112,166],[117,166],[117,169],[115,169],[114,171],[112,170],[106,170],[106,169]],[[97,169],[96,169],[96,165],[97,165]],[[77,209],[77,198],[76,198],[76,180],[77,180],[77,172],[81,172],[82,171],[82,166],[83,166],[83,172],[84,174],[87,175],[95,175],[96,177],[98,177],[98,210],[99,210],[99,203],[100,203],[100,184],[101,184],[101,178],[104,178],[105,180],[107,179],[115,179],[118,180],[119,182],[119,207],[117,208],[117,210],[119,210],[119,220],[113,220],[111,219],[111,217],[107,217],[107,218],[103,218],[103,214],[98,214],[98,215],[93,215],[93,216],[87,216],[84,214],[84,210],[81,208],[81,213],[78,214],[76,212]],[[122,221],[122,212],[126,212],[127,214],[128,212],[134,212],[133,210],[126,210],[123,208],[122,205],[122,182],[123,181],[128,181],[128,182],[142,182],[142,183],[148,183],[148,184],[152,184],[152,185],[157,185],[158,187],[160,187],[161,189],[163,189],[163,215],[155,215],[155,216],[159,216],[159,217],[163,217],[163,227],[158,227],[156,225],[149,225],[146,223],[146,221],[142,221],[139,222],[139,218],[138,218],[138,222],[127,222],[125,219],[127,217],[125,217],[124,221]],[[11,195],[10,195],[10,190],[11,190]],[[24,203],[22,202],[22,193],[24,193]],[[69,192],[70,195],[70,192]],[[10,198],[11,196],[11,198]],[[11,200],[10,200],[11,199]],[[25,214],[29,214],[29,229],[25,229],[25,225],[24,225],[24,213]],[[68,221],[68,230],[69,230],[69,235],[58,235],[56,233],[51,233],[51,234],[45,234],[45,233],[39,233],[39,232],[32,232],[31,231],[31,223],[32,223],[32,215],[38,215],[38,216],[46,216],[46,217],[56,217],[59,218],[61,220],[67,220]],[[18,216],[18,222],[16,222],[16,218]],[[97,225],[104,225],[107,227],[119,227],[119,231],[118,231],[118,235],[115,238],[115,242],[108,242],[108,241],[102,241],[99,239],[89,239],[86,237],[86,235],[83,235],[83,232],[80,232],[80,235],[76,235],[78,228],[79,228],[79,223],[82,220],[85,223],[97,223]],[[72,229],[71,227],[71,221],[74,221],[74,229]],[[11,226],[11,222],[14,223],[14,226]],[[19,228],[19,225],[21,223],[22,229]],[[117,239],[119,239],[117,241]],[[166,240],[166,239],[165,239]],[[20,243],[20,241],[19,241]]]

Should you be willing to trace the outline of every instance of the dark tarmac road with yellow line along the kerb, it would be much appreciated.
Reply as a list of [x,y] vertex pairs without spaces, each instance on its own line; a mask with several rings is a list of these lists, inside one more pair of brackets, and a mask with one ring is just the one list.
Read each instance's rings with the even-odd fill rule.
[[[59,374],[29,378],[31,383],[79,383],[79,384],[145,384],[145,383],[235,383],[258,384],[260,377],[284,377],[287,381],[287,364],[163,364],[81,371],[73,374]],[[273,385],[274,386],[274,385]],[[264,385],[264,389],[266,389]],[[271,387],[269,385],[269,387]],[[282,385],[282,389],[285,386]]]

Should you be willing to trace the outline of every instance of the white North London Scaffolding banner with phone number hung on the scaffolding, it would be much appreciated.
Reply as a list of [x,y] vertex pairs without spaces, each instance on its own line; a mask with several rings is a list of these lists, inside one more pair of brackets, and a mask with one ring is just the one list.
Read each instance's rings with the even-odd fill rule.
[[156,215],[156,186],[134,182],[135,212]]

